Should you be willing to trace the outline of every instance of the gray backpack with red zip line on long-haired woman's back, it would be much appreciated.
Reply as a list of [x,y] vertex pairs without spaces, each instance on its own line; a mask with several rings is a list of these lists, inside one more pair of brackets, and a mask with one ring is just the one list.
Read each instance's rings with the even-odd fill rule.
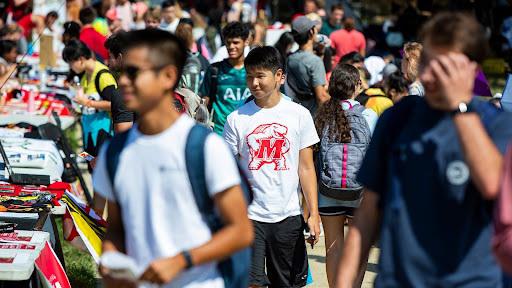
[[364,110],[360,104],[345,110],[352,136],[350,143],[331,142],[327,129],[321,135],[317,173],[319,192],[325,196],[344,201],[361,197],[363,187],[356,176],[371,140],[370,127],[362,114]]

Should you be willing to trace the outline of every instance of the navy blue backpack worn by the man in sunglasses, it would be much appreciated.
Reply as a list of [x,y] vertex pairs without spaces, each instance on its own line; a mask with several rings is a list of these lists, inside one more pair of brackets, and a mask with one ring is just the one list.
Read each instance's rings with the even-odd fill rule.
[[[112,187],[114,186],[115,174],[119,164],[119,156],[126,144],[130,130],[116,135],[112,138],[112,141],[107,147],[106,165]],[[187,136],[187,144],[185,146],[185,163],[196,205],[213,235],[223,227],[223,223],[215,209],[213,199],[210,198],[208,194],[208,187],[206,186],[204,146],[210,133],[211,130],[202,125],[195,125],[192,127]],[[238,169],[242,180],[242,191],[244,192],[245,199],[249,204],[252,201],[252,190],[247,178],[244,176],[240,168],[240,165],[238,166]],[[116,191],[115,189],[112,190],[115,196]],[[218,269],[222,275],[226,288],[248,287],[251,257],[251,248],[245,248],[235,252],[226,259],[219,261]]]

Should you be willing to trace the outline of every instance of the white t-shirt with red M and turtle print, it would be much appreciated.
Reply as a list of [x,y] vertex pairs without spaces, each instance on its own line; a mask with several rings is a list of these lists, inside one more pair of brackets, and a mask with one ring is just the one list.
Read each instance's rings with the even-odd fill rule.
[[262,109],[251,101],[228,116],[224,139],[253,188],[250,219],[277,223],[301,214],[299,151],[320,141],[306,108],[281,99]]

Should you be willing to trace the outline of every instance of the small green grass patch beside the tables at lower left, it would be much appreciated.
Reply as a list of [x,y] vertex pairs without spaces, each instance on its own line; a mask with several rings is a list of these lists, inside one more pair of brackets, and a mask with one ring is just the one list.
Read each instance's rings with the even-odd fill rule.
[[56,219],[57,231],[62,240],[62,251],[66,262],[66,274],[73,288],[97,287],[98,268],[87,251],[80,251],[71,246],[62,236],[62,219]]

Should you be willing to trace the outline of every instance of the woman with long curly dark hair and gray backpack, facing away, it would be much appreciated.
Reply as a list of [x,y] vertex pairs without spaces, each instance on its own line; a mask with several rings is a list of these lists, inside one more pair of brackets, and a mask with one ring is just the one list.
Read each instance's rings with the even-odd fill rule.
[[[352,157],[355,155],[352,149],[361,151],[361,154],[366,151],[377,122],[377,114],[373,110],[364,108],[354,100],[360,90],[361,79],[357,68],[349,64],[337,65],[329,81],[331,99],[322,105],[315,118],[315,126],[321,139],[316,162],[320,181],[318,210],[325,233],[329,287],[334,287],[338,260],[343,252],[345,221],[354,216],[354,210],[359,206],[362,195],[357,192],[355,196],[346,197],[346,200],[340,200],[343,197],[329,197],[323,192],[324,180],[339,174],[346,177],[345,181],[332,180],[342,181],[340,187],[344,187],[346,183],[356,183],[354,178],[361,165],[362,155],[359,158]],[[346,167],[347,165],[352,167]],[[349,171],[348,174],[346,171]]]

